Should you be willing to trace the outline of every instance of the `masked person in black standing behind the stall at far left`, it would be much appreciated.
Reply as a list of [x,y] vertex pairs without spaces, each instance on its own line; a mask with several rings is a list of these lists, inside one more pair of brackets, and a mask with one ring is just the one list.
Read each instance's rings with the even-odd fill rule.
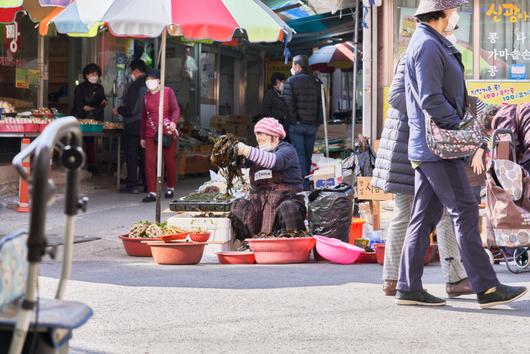
[[[104,109],[107,104],[105,89],[99,83],[101,68],[94,63],[83,69],[84,81],[77,85],[74,91],[74,105],[72,115],[77,119],[93,119],[103,121]],[[96,167],[96,139],[93,136],[84,137],[83,142],[87,156],[87,169],[92,174],[98,174]]]

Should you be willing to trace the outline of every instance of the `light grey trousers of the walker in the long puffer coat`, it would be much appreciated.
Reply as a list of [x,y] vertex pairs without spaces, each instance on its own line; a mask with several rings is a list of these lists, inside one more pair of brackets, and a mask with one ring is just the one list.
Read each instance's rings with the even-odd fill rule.
[[[410,194],[396,193],[394,197],[394,215],[386,235],[383,280],[398,279],[401,251],[414,200],[414,196]],[[446,211],[436,226],[436,234],[445,282],[455,283],[466,278],[467,274],[460,258],[453,223]]]

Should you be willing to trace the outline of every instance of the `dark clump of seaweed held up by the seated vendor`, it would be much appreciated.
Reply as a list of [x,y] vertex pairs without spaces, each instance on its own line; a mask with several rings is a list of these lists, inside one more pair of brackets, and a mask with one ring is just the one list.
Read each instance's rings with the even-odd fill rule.
[[215,142],[210,160],[215,167],[225,172],[226,194],[230,195],[234,188],[234,180],[239,178],[245,184],[243,172],[245,158],[237,154],[239,140],[233,134],[223,135]]

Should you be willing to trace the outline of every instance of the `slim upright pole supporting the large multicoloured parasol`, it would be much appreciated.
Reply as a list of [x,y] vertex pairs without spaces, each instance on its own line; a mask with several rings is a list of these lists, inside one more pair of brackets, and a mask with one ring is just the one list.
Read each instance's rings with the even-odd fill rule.
[[164,129],[164,92],[166,86],[166,42],[167,29],[162,31],[160,47],[160,103],[158,106],[158,149],[156,158],[156,222],[160,223],[162,193],[162,137]]

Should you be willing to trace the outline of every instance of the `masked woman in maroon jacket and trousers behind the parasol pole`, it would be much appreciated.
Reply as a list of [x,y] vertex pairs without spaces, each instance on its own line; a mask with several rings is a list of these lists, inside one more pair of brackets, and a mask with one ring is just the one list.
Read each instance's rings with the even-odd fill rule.
[[[140,123],[140,144],[145,149],[145,178],[147,196],[144,203],[156,201],[156,162],[158,152],[158,110],[160,104],[160,72],[151,70],[146,77],[145,85],[148,92],[142,100],[142,116]],[[163,134],[171,144],[162,148],[164,166],[167,175],[166,198],[173,198],[177,180],[177,124],[180,119],[180,109],[175,92],[170,87],[164,89]]]

